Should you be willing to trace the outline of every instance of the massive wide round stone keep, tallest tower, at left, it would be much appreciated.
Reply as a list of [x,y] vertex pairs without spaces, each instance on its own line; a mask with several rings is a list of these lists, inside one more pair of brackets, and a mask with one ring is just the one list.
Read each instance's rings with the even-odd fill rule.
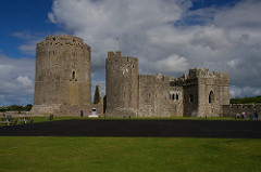
[[36,48],[33,114],[91,103],[91,51],[75,36],[48,36]]

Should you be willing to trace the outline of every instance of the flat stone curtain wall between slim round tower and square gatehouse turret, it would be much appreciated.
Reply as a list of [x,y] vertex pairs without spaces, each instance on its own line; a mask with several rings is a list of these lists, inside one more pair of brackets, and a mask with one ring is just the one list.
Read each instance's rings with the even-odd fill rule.
[[170,87],[171,77],[139,75],[139,117],[183,116],[183,88]]

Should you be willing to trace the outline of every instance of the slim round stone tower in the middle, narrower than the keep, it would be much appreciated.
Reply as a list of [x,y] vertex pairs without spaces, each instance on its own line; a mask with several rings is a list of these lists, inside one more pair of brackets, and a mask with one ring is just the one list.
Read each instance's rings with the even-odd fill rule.
[[108,117],[136,117],[138,111],[138,59],[109,52],[107,58]]

